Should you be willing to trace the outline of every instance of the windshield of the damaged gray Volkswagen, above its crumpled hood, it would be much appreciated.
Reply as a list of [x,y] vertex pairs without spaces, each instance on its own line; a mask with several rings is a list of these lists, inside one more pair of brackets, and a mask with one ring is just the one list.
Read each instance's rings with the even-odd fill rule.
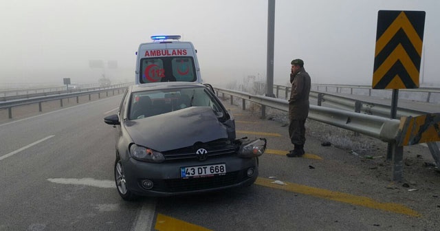
[[211,107],[221,117],[223,109],[205,87],[137,91],[131,95],[129,120],[137,120],[188,107]]

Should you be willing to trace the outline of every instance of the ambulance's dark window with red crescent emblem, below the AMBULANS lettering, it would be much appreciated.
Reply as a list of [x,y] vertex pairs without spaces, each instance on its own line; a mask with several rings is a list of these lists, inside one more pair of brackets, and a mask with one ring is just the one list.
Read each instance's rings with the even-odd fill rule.
[[190,56],[142,58],[140,83],[195,82],[194,60]]

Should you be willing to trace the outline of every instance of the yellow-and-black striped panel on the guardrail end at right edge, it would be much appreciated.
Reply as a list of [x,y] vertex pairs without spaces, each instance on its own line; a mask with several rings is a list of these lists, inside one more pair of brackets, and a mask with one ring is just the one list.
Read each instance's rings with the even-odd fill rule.
[[400,119],[399,146],[440,141],[440,113]]

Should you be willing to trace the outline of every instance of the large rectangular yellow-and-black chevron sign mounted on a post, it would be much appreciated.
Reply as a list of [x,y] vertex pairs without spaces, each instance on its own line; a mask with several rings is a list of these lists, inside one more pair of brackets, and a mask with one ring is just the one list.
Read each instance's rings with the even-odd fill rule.
[[424,11],[379,11],[373,89],[419,87],[425,15]]

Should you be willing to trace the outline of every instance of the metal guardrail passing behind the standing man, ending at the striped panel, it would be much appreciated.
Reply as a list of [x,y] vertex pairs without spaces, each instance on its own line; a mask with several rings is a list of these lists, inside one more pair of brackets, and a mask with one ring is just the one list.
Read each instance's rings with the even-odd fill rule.
[[[267,106],[281,111],[289,111],[289,103],[287,100],[267,96],[255,96],[241,91],[218,87],[214,87],[214,90],[217,91],[217,96],[219,93],[223,94],[223,97],[224,94],[231,96],[231,104],[233,104],[233,97],[241,98],[243,100],[243,110],[245,110],[245,101],[248,100],[256,104],[261,104],[263,107]],[[392,150],[392,158],[390,158],[393,160],[392,178],[393,180],[401,181],[404,166],[403,146],[397,146],[400,120],[384,118],[377,115],[356,113],[353,111],[332,109],[329,107],[319,107],[316,105],[310,105],[309,119],[338,126],[343,129],[362,133],[384,142],[388,142],[388,146],[391,146]]]

